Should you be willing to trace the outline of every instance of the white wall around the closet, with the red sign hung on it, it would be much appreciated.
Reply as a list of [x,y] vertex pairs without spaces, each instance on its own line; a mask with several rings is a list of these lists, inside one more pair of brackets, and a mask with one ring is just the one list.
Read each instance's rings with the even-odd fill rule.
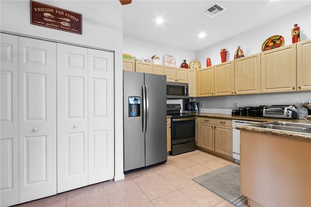
[[[115,51],[115,180],[123,174],[122,5],[119,1],[36,0],[82,14],[82,35],[30,24],[30,0],[1,0],[1,32]],[[113,19],[113,21],[112,21]]]

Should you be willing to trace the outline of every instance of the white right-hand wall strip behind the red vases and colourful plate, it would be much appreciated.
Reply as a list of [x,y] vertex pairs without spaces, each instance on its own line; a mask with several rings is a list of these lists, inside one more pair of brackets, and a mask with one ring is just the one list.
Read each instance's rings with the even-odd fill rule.
[[[268,11],[267,11],[268,12]],[[262,43],[272,35],[282,35],[286,45],[292,44],[292,29],[294,24],[300,26],[300,40],[311,39],[311,6],[305,7],[281,18],[272,20],[256,29],[230,37],[221,43],[217,43],[206,49],[196,52],[196,59],[201,67],[206,67],[206,59],[211,59],[211,64],[220,64],[220,50],[226,48],[227,61],[234,60],[234,53],[241,46],[244,55],[249,56],[261,52]],[[243,21],[241,21],[243,27]],[[212,41],[212,40],[211,40]]]

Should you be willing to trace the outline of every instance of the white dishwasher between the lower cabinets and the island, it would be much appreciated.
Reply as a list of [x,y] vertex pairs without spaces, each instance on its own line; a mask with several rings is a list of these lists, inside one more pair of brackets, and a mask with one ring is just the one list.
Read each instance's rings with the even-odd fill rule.
[[240,163],[240,131],[236,129],[237,126],[245,126],[250,124],[257,124],[259,122],[232,120],[232,157],[236,163]]

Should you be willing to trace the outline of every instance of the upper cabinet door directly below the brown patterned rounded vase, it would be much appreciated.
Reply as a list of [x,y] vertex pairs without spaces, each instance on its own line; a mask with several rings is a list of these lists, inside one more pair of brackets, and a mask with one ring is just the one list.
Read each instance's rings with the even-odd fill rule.
[[260,53],[234,60],[234,94],[260,93]]

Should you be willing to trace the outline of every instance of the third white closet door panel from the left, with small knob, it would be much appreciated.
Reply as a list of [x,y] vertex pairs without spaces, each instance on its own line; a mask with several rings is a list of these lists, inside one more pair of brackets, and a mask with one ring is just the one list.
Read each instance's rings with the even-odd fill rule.
[[57,192],[86,186],[87,48],[57,44]]

